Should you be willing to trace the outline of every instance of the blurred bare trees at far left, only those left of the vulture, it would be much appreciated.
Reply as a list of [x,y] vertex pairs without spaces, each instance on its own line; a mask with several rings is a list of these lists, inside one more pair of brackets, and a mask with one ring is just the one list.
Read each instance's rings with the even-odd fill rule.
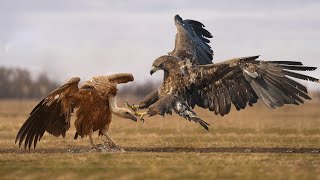
[[26,69],[0,67],[0,99],[43,98],[58,86],[45,73],[32,79]]

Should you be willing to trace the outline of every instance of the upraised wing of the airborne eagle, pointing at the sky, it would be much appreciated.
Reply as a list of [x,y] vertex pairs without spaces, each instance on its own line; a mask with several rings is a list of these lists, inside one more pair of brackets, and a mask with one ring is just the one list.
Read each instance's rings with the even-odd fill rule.
[[174,17],[177,27],[175,48],[169,53],[181,60],[189,59],[193,64],[211,64],[213,51],[209,46],[212,35],[201,22]]

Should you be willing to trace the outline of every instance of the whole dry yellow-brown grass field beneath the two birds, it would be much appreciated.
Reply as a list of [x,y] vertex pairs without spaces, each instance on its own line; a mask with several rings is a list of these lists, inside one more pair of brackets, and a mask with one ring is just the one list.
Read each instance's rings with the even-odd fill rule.
[[209,132],[176,115],[114,117],[110,135],[124,153],[91,152],[74,127],[19,149],[15,135],[35,104],[0,101],[0,179],[320,179],[320,104],[258,104],[225,117],[196,109]]

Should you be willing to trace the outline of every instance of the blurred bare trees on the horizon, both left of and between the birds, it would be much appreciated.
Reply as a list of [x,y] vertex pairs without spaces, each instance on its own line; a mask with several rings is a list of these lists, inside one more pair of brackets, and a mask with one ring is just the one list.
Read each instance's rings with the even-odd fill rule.
[[[22,68],[0,67],[0,99],[40,99],[61,86],[62,82],[50,79],[41,73],[36,78],[31,77],[30,71]],[[121,85],[119,95],[141,98],[158,88],[159,83],[129,83]]]

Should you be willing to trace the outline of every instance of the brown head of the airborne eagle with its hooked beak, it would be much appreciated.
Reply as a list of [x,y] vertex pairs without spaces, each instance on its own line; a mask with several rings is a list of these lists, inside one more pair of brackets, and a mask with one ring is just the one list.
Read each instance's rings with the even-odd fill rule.
[[150,75],[155,73],[158,70],[163,70],[165,72],[175,71],[178,67],[179,60],[174,56],[160,56],[157,58],[153,64],[152,68],[150,70]]

